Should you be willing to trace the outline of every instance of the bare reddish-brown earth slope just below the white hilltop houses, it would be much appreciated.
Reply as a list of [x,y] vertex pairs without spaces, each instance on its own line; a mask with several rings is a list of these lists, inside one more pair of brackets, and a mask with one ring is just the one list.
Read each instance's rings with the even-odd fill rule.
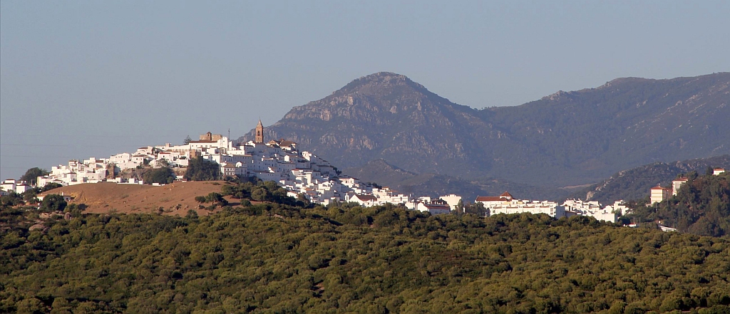
[[[166,215],[185,216],[188,210],[194,209],[199,215],[211,213],[207,209],[199,209],[196,196],[208,195],[210,192],[220,193],[224,181],[191,181],[175,182],[161,187],[138,184],[77,184],[69,187],[52,189],[46,194],[71,195],[71,203],[88,205],[87,213],[156,213],[163,208]],[[226,197],[231,206],[239,205],[239,200]],[[204,204],[210,205],[210,204]],[[217,209],[218,211],[220,209]]]

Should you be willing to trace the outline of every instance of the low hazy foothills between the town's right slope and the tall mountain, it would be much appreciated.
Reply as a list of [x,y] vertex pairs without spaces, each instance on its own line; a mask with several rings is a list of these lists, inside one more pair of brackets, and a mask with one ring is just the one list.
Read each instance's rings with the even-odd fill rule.
[[465,203],[474,203],[477,196],[500,195],[509,191],[515,197],[531,200],[548,200],[569,195],[564,189],[534,187],[516,184],[496,178],[467,180],[437,173],[412,173],[388,164],[385,160],[372,160],[361,167],[342,170],[347,176],[361,181],[375,182],[403,194],[439,196],[458,193]]

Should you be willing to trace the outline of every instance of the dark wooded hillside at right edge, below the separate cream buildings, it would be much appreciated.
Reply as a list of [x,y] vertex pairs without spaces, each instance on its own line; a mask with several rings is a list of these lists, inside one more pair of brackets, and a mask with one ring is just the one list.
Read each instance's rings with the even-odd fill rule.
[[699,176],[695,171],[682,174],[688,181],[677,195],[661,203],[646,205],[648,199],[629,203],[634,213],[629,219],[661,221],[680,232],[728,237],[730,235],[730,173]]

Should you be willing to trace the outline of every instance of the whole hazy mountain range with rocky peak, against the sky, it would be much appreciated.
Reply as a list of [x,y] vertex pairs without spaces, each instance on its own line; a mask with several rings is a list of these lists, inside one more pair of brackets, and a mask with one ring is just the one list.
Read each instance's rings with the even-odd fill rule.
[[730,154],[729,103],[727,72],[615,79],[481,110],[380,72],[294,107],[265,131],[339,168],[383,159],[413,173],[562,187],[650,162]]

